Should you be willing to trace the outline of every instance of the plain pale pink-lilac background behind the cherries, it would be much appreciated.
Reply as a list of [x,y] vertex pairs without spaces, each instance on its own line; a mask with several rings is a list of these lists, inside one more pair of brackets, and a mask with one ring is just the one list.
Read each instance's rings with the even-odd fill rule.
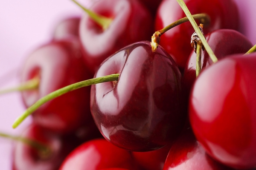
[[[255,0],[235,0],[239,3],[241,32],[256,44]],[[83,0],[89,6],[90,0]],[[244,10],[245,9],[245,10]],[[0,3],[0,89],[19,83],[19,69],[26,56],[38,45],[47,42],[55,24],[61,18],[80,15],[81,10],[71,0],[2,0]],[[247,18],[245,17],[247,16]],[[249,26],[250,25],[250,26]],[[18,92],[0,96],[0,132],[19,134],[31,119],[12,129],[12,123],[25,111]],[[0,169],[11,169],[12,142],[0,138]]]

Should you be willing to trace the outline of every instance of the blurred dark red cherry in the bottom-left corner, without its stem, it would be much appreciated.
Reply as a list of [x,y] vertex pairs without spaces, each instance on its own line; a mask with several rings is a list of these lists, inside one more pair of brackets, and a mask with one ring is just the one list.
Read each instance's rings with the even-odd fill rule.
[[34,124],[29,125],[20,136],[49,147],[49,152],[23,142],[15,142],[12,170],[58,170],[65,157],[77,145],[75,139],[62,139],[55,133]]

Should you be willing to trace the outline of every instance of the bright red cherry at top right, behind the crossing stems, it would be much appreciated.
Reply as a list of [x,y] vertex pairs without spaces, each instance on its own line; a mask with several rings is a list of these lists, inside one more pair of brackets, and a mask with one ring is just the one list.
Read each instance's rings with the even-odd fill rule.
[[[204,34],[220,28],[237,29],[239,17],[233,0],[184,0],[191,14],[207,13],[210,25],[204,27]],[[160,30],[176,20],[186,17],[176,0],[163,0],[155,20],[155,31]],[[183,69],[192,51],[190,37],[195,32],[191,24],[184,23],[161,36],[160,45],[175,59]]]

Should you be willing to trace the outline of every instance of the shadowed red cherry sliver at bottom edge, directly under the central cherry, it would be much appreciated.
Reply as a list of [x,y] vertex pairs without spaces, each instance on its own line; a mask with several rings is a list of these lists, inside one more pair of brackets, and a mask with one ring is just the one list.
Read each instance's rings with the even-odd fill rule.
[[135,161],[143,170],[163,170],[171,144],[149,152],[132,152]]

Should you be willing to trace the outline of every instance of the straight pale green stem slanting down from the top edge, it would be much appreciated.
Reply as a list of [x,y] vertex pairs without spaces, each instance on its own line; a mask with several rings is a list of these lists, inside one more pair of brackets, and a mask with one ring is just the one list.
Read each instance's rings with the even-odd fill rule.
[[191,23],[191,25],[195,29],[195,32],[198,34],[198,37],[200,38],[201,42],[203,43],[205,50],[209,54],[209,57],[212,59],[212,62],[217,62],[218,61],[217,57],[215,56],[215,54],[212,51],[212,48],[210,48],[209,44],[207,43],[206,39],[204,38],[203,33],[198,28],[198,25],[195,22],[194,18],[192,17],[192,14],[190,13],[186,4],[184,3],[183,0],[177,0],[177,2],[179,3],[180,7],[183,9],[184,13],[188,17],[189,22]]

